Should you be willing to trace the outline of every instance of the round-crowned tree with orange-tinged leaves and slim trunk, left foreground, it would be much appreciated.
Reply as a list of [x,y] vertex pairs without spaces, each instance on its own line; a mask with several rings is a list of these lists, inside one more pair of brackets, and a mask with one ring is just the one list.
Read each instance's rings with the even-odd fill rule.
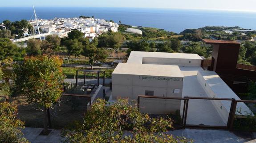
[[44,107],[44,134],[48,133],[47,109],[52,106],[62,93],[64,75],[61,70],[62,60],[46,55],[25,58],[22,64],[13,68],[15,84],[24,93],[28,103],[37,103]]

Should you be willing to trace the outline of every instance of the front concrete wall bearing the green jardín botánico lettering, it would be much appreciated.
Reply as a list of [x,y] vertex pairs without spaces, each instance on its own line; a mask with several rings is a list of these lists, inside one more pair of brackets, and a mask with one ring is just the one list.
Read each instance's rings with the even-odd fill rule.
[[[183,77],[157,77],[127,74],[112,74],[112,99],[118,97],[137,101],[138,95],[146,90],[154,91],[154,96],[182,97]],[[179,89],[179,93],[174,93]],[[169,114],[180,109],[180,100],[142,99],[142,112],[150,114]]]

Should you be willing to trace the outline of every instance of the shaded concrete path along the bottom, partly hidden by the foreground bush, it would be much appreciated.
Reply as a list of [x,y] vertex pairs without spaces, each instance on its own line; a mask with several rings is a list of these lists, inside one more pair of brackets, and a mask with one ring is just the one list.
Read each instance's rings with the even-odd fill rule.
[[[61,131],[53,130],[48,136],[39,135],[42,128],[25,128],[24,137],[31,143],[60,143]],[[256,133],[235,134],[224,130],[183,129],[168,134],[192,139],[194,143],[256,143]]]

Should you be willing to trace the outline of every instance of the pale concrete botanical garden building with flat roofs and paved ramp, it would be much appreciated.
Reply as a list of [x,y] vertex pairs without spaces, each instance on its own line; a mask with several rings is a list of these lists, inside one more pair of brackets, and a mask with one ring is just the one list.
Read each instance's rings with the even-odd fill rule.
[[[219,50],[220,51],[220,50]],[[215,57],[215,56],[214,56]],[[219,61],[220,62],[219,58]],[[127,63],[119,63],[112,74],[112,97],[137,100],[138,95],[156,97],[240,98],[215,71],[203,70],[198,54],[132,51]],[[216,62],[216,60],[215,60]],[[220,70],[219,66],[213,66]],[[150,114],[183,114],[182,100],[140,99],[140,110]],[[225,126],[231,102],[225,100],[190,100],[187,124]],[[236,106],[236,115],[252,111],[244,103]]]

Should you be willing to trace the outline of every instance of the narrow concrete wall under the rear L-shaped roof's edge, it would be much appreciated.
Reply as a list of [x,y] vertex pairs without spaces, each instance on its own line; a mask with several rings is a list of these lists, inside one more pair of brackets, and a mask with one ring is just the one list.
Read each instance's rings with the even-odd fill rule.
[[143,57],[142,64],[155,65],[178,65],[178,66],[201,66],[199,59],[183,59],[183,58],[155,58]]

